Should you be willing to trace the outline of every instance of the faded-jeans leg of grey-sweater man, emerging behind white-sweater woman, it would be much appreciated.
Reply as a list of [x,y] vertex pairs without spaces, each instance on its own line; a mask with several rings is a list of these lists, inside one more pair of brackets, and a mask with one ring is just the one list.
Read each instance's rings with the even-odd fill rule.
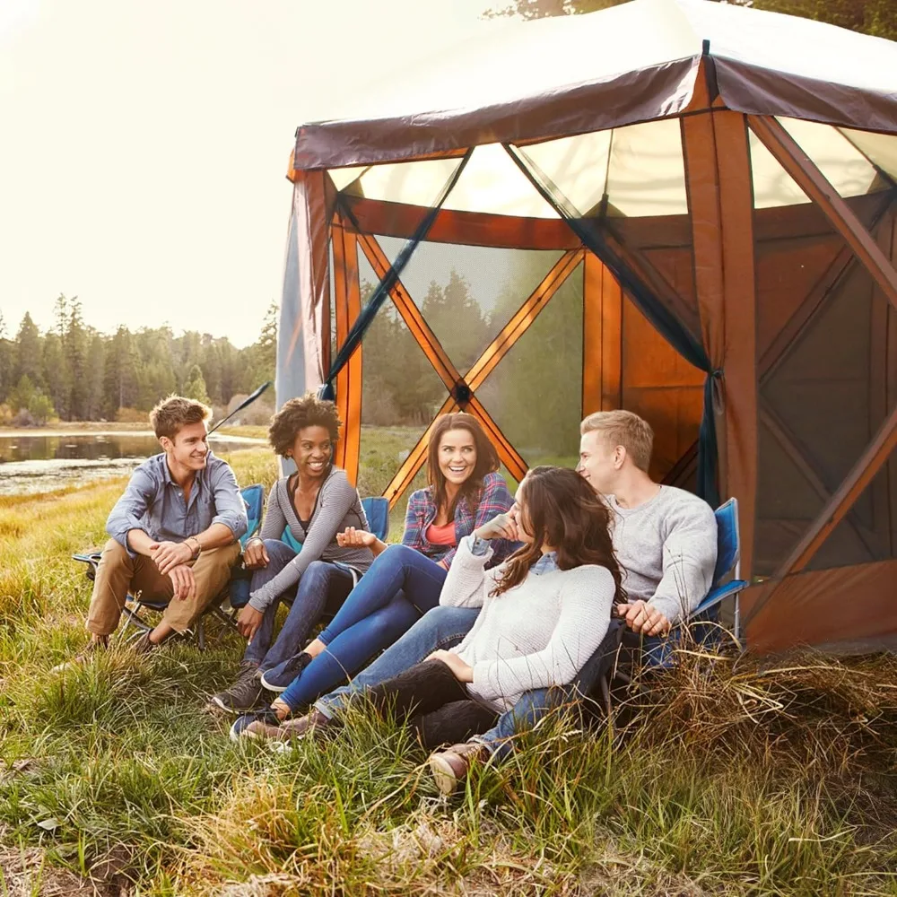
[[434,607],[423,614],[411,629],[393,642],[370,666],[365,666],[354,676],[351,683],[323,695],[315,702],[315,707],[327,718],[334,717],[349,695],[363,692],[398,675],[409,666],[428,658],[433,651],[454,648],[471,630],[479,613],[479,607]]

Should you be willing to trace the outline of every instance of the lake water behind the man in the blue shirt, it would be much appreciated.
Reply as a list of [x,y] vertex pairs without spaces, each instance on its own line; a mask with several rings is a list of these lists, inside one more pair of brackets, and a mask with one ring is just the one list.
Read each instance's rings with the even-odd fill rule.
[[[213,434],[209,443],[221,455],[265,445],[266,441]],[[160,450],[150,431],[36,432],[24,436],[0,431],[0,495],[52,492],[121,476]]]

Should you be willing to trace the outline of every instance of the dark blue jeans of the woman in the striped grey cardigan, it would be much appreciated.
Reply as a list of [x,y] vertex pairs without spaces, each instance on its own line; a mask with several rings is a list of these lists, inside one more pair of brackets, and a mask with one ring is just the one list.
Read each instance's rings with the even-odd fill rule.
[[[266,567],[252,574],[250,591],[262,588],[292,561],[296,553],[276,539],[266,539],[268,553]],[[352,591],[352,574],[344,567],[326,561],[309,563],[299,583],[277,597],[266,609],[262,624],[243,654],[243,663],[257,666],[262,672],[292,658],[309,639],[311,628],[318,623],[325,610],[334,610]],[[274,636],[274,617],[281,601],[290,601],[292,607],[283,622],[283,629],[271,644]]]

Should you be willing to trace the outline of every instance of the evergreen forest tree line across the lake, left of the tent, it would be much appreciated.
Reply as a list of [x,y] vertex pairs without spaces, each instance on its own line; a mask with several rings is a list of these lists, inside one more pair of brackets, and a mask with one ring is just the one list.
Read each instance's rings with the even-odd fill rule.
[[59,296],[54,325],[41,333],[28,312],[14,334],[0,314],[0,424],[146,420],[171,393],[226,406],[232,396],[274,379],[277,306],[257,341],[230,340],[170,327],[100,333],[84,322],[81,302]]

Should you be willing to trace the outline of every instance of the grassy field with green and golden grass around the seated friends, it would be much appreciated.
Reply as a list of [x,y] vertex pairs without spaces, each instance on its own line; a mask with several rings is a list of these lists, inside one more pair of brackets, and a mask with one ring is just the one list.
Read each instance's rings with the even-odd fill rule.
[[446,801],[401,727],[232,745],[203,712],[232,636],[50,675],[122,484],[0,500],[0,893],[897,894],[893,658],[687,657]]

